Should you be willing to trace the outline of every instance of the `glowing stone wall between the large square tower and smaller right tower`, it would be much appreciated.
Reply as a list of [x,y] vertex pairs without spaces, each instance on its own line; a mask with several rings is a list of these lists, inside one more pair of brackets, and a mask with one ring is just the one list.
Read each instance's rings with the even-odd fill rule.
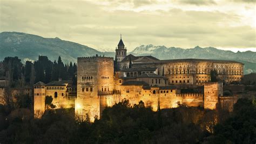
[[170,109],[179,104],[187,106],[204,106],[204,95],[201,93],[180,93],[177,89],[160,90],[158,87],[143,89],[142,86],[122,85],[121,98],[129,99],[131,105],[142,100],[145,106],[151,106],[153,111]]

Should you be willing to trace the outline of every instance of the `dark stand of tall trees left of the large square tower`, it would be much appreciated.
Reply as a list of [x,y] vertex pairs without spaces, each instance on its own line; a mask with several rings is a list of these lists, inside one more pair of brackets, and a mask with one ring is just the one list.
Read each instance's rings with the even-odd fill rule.
[[76,63],[64,64],[60,56],[57,62],[40,55],[37,61],[26,61],[25,64],[17,56],[5,57],[0,62],[0,77],[6,77],[11,88],[32,86],[39,81],[49,83],[59,78],[73,80],[73,84],[76,84],[76,70]]

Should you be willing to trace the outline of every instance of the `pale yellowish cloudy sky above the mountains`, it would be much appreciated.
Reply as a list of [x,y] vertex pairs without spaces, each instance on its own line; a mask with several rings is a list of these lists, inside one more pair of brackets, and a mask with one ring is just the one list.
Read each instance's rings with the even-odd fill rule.
[[58,37],[114,51],[140,45],[256,52],[256,0],[3,1],[0,32]]

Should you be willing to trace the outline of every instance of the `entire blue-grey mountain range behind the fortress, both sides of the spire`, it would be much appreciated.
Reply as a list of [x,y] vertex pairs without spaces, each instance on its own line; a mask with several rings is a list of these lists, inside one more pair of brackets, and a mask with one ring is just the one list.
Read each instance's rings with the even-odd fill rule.
[[[43,38],[38,35],[20,32],[0,33],[0,61],[6,56],[18,56],[23,61],[35,61],[38,55],[46,55],[50,60],[62,57],[63,62],[76,62],[77,57],[105,55],[114,57],[114,52],[99,52],[96,49],[59,38]],[[235,60],[245,63],[245,73],[256,73],[256,52],[224,51],[214,47],[201,48],[196,46],[190,49],[142,45],[136,47],[131,54],[136,56],[152,55],[158,59],[217,59]]]

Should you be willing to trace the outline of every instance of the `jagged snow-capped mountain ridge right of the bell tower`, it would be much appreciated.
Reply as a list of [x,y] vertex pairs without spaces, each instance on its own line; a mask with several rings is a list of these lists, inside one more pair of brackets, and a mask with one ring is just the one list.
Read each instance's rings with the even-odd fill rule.
[[152,55],[158,59],[215,59],[215,60],[235,60],[245,63],[245,73],[256,73],[256,52],[224,51],[214,47],[183,49],[179,47],[165,47],[154,45],[142,45],[136,47],[133,55]]

